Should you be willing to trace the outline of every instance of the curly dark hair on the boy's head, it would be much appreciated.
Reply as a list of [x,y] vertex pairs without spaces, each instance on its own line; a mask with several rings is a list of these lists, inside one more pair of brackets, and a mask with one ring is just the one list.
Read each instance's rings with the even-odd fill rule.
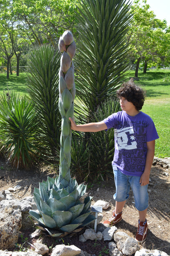
[[136,86],[133,79],[129,80],[116,91],[118,98],[124,97],[127,101],[132,102],[136,110],[141,110],[145,101],[145,92],[140,87]]

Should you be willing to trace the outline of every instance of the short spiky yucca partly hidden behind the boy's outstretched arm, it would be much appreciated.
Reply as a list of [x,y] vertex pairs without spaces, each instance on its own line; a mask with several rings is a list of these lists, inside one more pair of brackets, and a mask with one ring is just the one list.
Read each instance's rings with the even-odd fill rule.
[[[111,114],[120,110],[117,100],[108,99],[98,106],[92,122],[99,122]],[[89,138],[90,170],[94,170],[90,176],[93,180],[104,177],[113,178],[112,160],[114,156],[114,128],[98,133],[91,133]],[[94,153],[96,152],[96,153]]]

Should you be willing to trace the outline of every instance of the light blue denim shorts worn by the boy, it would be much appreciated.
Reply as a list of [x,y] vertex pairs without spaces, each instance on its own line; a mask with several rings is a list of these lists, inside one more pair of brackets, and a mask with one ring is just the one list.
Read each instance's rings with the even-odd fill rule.
[[119,169],[114,170],[114,182],[116,185],[116,193],[113,196],[114,200],[118,202],[127,200],[131,187],[136,209],[143,211],[148,208],[148,185],[141,186],[139,183],[140,178],[138,176],[125,175]]

